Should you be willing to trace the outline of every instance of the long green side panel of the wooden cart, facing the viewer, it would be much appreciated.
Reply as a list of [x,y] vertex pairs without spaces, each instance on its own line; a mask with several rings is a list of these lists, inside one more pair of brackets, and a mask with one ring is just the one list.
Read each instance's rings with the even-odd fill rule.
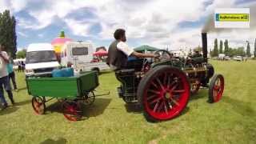
[[33,96],[75,98],[78,96],[77,78],[31,78],[27,79]]

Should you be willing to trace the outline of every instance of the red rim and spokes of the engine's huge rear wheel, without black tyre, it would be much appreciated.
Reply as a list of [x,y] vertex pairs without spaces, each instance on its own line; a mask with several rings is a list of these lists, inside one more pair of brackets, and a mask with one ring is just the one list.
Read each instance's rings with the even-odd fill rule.
[[186,106],[190,86],[185,74],[176,70],[165,71],[152,78],[146,86],[143,102],[146,111],[154,118],[174,118]]

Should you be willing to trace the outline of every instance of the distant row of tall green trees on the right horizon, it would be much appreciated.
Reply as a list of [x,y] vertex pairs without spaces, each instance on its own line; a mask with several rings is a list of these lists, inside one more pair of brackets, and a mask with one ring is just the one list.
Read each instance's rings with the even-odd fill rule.
[[[231,48],[229,46],[229,42],[226,39],[224,41],[224,50],[223,50],[223,42],[222,40],[220,40],[219,42],[219,48],[218,48],[218,39],[215,38],[214,39],[214,50],[210,50],[210,56],[211,57],[218,57],[218,54],[226,54],[230,57],[233,57],[235,55],[240,55],[243,57],[251,57],[251,53],[250,53],[250,42],[246,41],[247,46],[246,46],[246,50],[245,47],[240,46],[238,48]],[[254,42],[254,57],[256,56],[256,38],[255,38],[255,42]]]

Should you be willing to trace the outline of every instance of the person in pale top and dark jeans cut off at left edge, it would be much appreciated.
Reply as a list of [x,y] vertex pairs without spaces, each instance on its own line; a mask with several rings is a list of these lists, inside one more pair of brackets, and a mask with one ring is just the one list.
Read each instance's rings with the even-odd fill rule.
[[3,107],[5,109],[8,104],[6,102],[6,98],[4,97],[3,87],[6,89],[8,97],[10,98],[10,102],[14,105],[13,94],[10,90],[10,80],[8,78],[7,64],[9,63],[9,57],[6,51],[4,50],[4,46],[0,45],[0,99],[2,101]]

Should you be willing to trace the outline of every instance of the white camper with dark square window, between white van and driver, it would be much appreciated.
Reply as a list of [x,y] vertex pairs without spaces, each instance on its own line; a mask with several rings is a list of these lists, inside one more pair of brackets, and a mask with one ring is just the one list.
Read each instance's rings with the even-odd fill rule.
[[106,62],[92,62],[94,56],[94,48],[90,42],[66,42],[62,46],[61,64],[68,66],[73,65],[75,72],[85,70],[107,70],[110,67]]

